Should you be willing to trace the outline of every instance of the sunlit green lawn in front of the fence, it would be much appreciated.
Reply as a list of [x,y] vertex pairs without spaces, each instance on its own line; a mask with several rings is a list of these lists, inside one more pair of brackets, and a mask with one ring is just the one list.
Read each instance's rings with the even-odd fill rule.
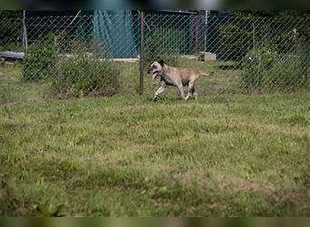
[[146,78],[142,96],[53,100],[19,72],[0,68],[1,215],[310,214],[310,94],[152,103]]

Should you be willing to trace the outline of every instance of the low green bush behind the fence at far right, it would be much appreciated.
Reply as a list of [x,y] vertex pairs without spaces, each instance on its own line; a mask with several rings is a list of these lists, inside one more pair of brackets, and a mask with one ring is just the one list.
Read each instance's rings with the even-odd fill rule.
[[241,80],[247,90],[295,90],[309,83],[309,45],[296,42],[291,53],[260,47],[247,53]]

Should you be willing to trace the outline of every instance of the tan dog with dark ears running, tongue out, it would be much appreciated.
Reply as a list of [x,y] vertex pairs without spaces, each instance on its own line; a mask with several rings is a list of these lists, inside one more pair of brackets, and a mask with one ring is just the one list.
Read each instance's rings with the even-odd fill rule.
[[[179,94],[185,101],[189,100],[190,97],[194,97],[195,100],[198,99],[197,91],[195,90],[195,84],[199,78],[199,75],[211,75],[201,73],[192,68],[185,67],[173,67],[165,64],[162,60],[158,62],[153,62],[150,64],[150,69],[148,74],[151,78],[155,80],[160,76],[160,88],[153,96],[153,101],[156,101],[160,94],[162,94],[167,86],[176,86],[179,89]],[[183,86],[189,86],[189,93],[185,97]]]

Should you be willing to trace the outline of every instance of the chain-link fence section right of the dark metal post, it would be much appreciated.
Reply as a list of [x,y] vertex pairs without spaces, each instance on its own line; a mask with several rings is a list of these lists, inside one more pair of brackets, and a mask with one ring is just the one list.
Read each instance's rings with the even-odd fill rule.
[[147,15],[146,58],[214,71],[198,83],[202,94],[309,89],[309,22],[283,15]]

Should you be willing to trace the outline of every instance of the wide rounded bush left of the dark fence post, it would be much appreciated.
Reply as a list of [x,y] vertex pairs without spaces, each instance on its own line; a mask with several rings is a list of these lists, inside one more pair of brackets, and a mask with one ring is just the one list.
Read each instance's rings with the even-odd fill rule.
[[120,89],[118,68],[111,62],[100,62],[87,54],[60,60],[56,72],[57,78],[52,84],[56,94],[111,96]]

